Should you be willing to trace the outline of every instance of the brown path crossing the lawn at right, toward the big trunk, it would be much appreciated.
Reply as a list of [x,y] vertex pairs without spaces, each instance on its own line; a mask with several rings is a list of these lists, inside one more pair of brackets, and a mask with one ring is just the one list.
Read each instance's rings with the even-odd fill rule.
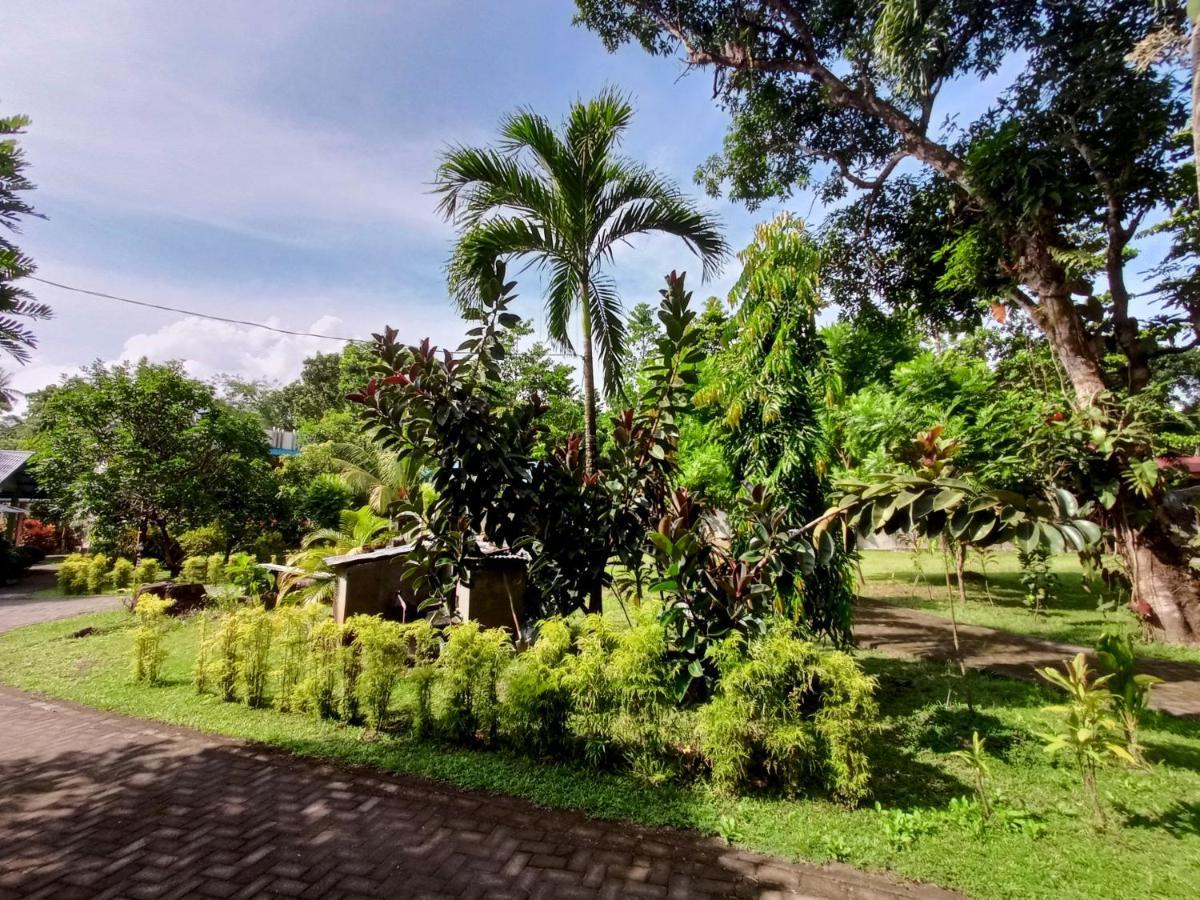
[[[929,660],[954,659],[950,620],[941,616],[859,598],[854,608],[854,638],[859,647],[877,648]],[[1058,666],[1086,647],[1042,641],[1010,631],[978,625],[959,625],[959,644],[971,668],[1026,680],[1040,680],[1034,672]],[[1094,667],[1096,662],[1092,661]],[[1200,718],[1200,666],[1144,659],[1138,671],[1163,679],[1150,694],[1150,704],[1172,715]]]

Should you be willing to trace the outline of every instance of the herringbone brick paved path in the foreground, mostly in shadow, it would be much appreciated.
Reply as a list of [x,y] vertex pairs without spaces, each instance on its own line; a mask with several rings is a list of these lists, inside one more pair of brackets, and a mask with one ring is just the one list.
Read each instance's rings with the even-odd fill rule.
[[8,898],[950,898],[0,688]]

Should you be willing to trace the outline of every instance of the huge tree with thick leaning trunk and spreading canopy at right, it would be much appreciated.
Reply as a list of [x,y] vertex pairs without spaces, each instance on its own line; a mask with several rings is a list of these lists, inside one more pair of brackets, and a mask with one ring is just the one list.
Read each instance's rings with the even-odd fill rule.
[[[1172,199],[1172,136],[1183,85],[1139,70],[1138,43],[1181,7],[1102,0],[578,0],[610,47],[635,40],[710,67],[732,114],[726,149],[703,169],[750,203],[828,175],[827,199],[886,200],[901,164],[941,232],[942,296],[1015,308],[1045,334],[1117,486],[1109,516],[1133,581],[1170,640],[1200,641],[1200,580],[1153,469],[1153,448],[1120,433],[1163,356],[1200,340],[1200,302],[1176,296],[1154,322],[1126,278],[1139,228]],[[961,79],[1015,78],[973,121],[942,125],[938,100]],[[916,167],[913,166],[916,163]],[[920,235],[924,240],[928,235]],[[916,240],[916,238],[914,238]],[[908,235],[901,245],[911,246]],[[874,262],[874,260],[869,260]],[[882,260],[887,263],[887,259]],[[1082,449],[1081,449],[1082,451]]]

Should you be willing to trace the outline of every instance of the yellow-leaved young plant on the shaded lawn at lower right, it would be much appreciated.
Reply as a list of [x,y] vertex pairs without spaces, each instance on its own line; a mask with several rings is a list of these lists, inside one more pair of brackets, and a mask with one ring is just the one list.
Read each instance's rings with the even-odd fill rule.
[[1118,742],[1117,724],[1109,714],[1112,694],[1108,689],[1108,683],[1112,680],[1112,676],[1093,679],[1082,653],[1064,662],[1063,672],[1049,666],[1038,670],[1038,674],[1050,684],[1062,688],[1068,696],[1066,704],[1046,707],[1046,712],[1058,713],[1063,720],[1060,731],[1042,736],[1045,740],[1045,751],[1067,754],[1072,757],[1082,779],[1084,796],[1097,824],[1103,827],[1105,816],[1097,785],[1097,772],[1100,764],[1110,758],[1129,763],[1135,763],[1135,760]]

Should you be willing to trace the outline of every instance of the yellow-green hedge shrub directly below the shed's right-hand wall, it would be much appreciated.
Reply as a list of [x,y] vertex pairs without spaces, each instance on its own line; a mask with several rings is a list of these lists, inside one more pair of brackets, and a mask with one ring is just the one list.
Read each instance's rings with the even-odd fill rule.
[[442,726],[457,740],[494,740],[500,671],[512,650],[508,631],[463,622],[446,629],[446,635],[438,659],[445,686]]

